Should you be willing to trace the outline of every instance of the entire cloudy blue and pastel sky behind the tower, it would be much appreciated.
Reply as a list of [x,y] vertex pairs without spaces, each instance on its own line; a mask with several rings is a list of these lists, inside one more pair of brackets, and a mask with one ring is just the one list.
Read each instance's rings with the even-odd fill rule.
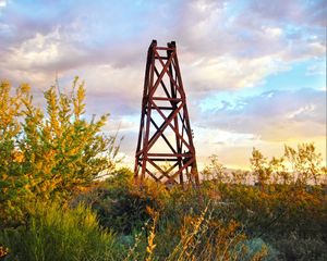
[[133,164],[147,48],[175,40],[198,165],[315,142],[326,162],[326,1],[0,0],[0,79],[86,83]]

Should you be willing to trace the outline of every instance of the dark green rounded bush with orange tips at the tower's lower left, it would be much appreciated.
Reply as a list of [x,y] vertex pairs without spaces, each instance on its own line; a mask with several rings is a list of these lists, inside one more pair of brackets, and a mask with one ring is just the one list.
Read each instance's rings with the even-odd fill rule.
[[167,195],[166,188],[157,183],[145,183],[143,188],[134,186],[133,173],[123,167],[80,195],[72,204],[84,202],[90,206],[97,212],[100,225],[128,235],[150,219],[147,207],[156,210],[164,208]]

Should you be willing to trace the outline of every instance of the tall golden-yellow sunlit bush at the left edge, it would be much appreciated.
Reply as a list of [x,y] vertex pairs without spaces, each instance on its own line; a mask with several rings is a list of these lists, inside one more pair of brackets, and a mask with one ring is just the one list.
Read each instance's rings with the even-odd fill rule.
[[29,202],[65,200],[113,169],[116,137],[101,134],[107,115],[85,117],[85,88],[45,91],[47,110],[33,102],[26,84],[0,82],[0,227],[17,226]]

